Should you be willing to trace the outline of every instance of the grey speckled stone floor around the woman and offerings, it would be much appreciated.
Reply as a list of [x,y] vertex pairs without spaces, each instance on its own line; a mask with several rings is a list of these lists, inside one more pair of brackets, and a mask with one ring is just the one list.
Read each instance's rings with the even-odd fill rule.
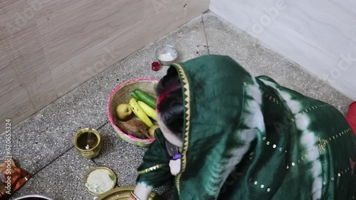
[[[114,170],[118,186],[135,184],[136,167],[145,148],[130,145],[115,134],[108,123],[107,101],[112,89],[121,82],[135,77],[159,79],[165,74],[167,67],[159,72],[153,72],[150,67],[155,60],[155,49],[163,44],[174,45],[179,50],[180,61],[208,53],[229,55],[251,74],[268,75],[286,87],[332,104],[342,113],[351,102],[214,13],[204,13],[14,126],[11,154],[17,165],[31,173],[31,179],[11,198],[43,194],[58,200],[93,199],[85,191],[83,179],[95,166]],[[73,148],[75,132],[88,126],[103,135],[103,151],[93,160],[85,160]],[[4,140],[0,140],[1,153],[5,152],[4,147]],[[162,199],[170,199],[171,189],[167,185],[157,193],[162,194]]]

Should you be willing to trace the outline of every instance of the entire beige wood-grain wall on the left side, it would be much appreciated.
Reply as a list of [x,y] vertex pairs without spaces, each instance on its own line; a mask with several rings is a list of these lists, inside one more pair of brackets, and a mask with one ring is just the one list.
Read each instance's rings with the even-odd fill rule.
[[0,133],[3,118],[23,120],[208,6],[209,0],[0,1]]

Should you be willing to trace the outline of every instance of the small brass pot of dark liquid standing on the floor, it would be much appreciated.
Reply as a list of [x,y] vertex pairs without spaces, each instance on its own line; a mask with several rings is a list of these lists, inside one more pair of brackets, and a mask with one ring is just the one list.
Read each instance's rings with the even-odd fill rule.
[[99,155],[101,150],[100,133],[93,128],[80,129],[74,135],[74,145],[79,155],[92,159]]

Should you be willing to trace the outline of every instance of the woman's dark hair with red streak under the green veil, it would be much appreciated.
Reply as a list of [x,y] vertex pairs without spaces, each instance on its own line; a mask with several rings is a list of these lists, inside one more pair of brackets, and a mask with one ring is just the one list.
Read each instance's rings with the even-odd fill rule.
[[162,122],[179,138],[183,139],[184,105],[182,83],[174,67],[169,67],[167,74],[157,85],[157,110]]

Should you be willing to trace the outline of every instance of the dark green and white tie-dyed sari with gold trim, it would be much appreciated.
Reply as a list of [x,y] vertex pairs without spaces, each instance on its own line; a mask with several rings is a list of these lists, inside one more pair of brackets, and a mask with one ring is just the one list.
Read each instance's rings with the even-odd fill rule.
[[335,107],[226,56],[171,67],[185,105],[181,172],[170,174],[157,129],[137,184],[174,179],[174,199],[184,200],[356,198],[356,139]]

